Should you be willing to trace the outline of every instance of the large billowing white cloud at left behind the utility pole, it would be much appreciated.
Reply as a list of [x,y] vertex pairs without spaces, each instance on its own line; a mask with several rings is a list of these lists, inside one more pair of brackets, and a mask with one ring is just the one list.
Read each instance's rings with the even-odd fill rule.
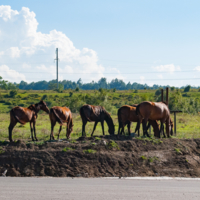
[[[55,79],[56,66],[53,61],[56,48],[59,51],[60,80],[77,81],[82,78],[83,82],[97,81],[105,77],[104,72],[107,70],[116,73],[115,69],[105,70],[97,64],[98,56],[94,50],[77,49],[64,33],[52,30],[43,34],[37,31],[37,27],[36,15],[29,8],[23,7],[21,11],[16,11],[10,6],[0,6],[0,65],[5,64],[15,71],[22,71],[23,68],[21,80]],[[120,72],[117,73],[117,77],[122,78]]]

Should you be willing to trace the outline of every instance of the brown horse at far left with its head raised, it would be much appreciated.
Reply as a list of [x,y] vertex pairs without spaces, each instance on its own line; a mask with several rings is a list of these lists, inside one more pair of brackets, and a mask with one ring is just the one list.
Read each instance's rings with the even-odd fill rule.
[[47,107],[46,103],[44,101],[40,101],[39,103],[32,104],[28,108],[23,108],[16,106],[11,109],[10,111],[10,125],[8,127],[9,130],[9,140],[12,142],[12,130],[14,126],[19,122],[20,124],[26,124],[27,122],[30,122],[30,128],[31,128],[31,137],[33,138],[33,131],[35,140],[38,141],[36,137],[36,131],[35,131],[35,123],[37,119],[37,113],[43,110],[47,113],[49,113],[49,108]]

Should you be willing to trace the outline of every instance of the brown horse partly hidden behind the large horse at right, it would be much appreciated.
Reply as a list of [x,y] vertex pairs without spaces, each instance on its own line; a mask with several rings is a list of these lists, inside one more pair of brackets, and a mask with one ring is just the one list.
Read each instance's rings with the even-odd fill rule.
[[[136,114],[136,107],[137,104],[128,106],[122,106],[121,108],[119,108],[118,110],[118,122],[119,122],[119,129],[118,129],[118,135],[122,134],[124,132],[124,126],[127,124],[128,126],[128,133],[130,135],[130,125],[131,122],[137,122],[137,126],[135,129],[135,133],[138,131],[138,136],[139,136],[139,130],[140,130],[140,117]],[[157,137],[158,135],[158,131],[159,131],[159,126],[157,121],[152,121],[149,120],[149,124],[148,124],[148,128],[149,129],[150,125],[153,126],[154,129],[154,135]],[[121,133],[120,133],[120,129],[121,129]]]

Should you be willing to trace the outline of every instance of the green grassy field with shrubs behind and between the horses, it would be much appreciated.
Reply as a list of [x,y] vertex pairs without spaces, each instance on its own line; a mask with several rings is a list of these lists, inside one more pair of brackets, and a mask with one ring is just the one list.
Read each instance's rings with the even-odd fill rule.
[[[17,91],[14,97],[9,95],[9,91],[0,91],[0,140],[8,140],[9,126],[9,110],[14,106],[27,107],[33,103],[44,99],[50,107],[54,105],[68,106],[73,112],[74,128],[71,138],[81,136],[82,121],[78,110],[83,104],[103,105],[112,115],[115,124],[115,133],[118,130],[117,110],[122,105],[131,105],[140,103],[141,101],[158,101],[160,95],[155,95],[155,90],[92,90],[92,91],[74,91],[66,90],[62,93],[55,91]],[[200,137],[200,92],[199,90],[191,90],[184,93],[183,90],[175,90],[170,92],[170,103],[175,108],[183,110],[184,113],[177,114],[177,136],[178,138],[199,138]],[[174,108],[174,107],[173,107]],[[172,115],[173,119],[173,115]],[[92,132],[94,123],[86,125],[87,136]],[[136,124],[132,124],[132,132],[134,132]],[[58,133],[57,125],[54,134]],[[65,138],[66,130],[61,132],[60,138]],[[141,128],[142,129],[142,128]],[[105,123],[107,132],[107,125]],[[126,130],[127,131],[127,130]],[[36,123],[36,132],[39,140],[48,140],[50,137],[50,121],[49,116],[40,112]],[[142,131],[141,131],[142,133]],[[94,135],[101,135],[101,126],[98,124]],[[22,126],[17,124],[13,130],[13,139],[30,140],[29,124]]]

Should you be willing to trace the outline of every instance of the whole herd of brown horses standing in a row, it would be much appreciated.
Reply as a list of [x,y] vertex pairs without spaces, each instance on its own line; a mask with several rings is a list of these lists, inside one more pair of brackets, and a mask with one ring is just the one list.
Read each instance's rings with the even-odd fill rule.
[[[60,107],[54,106],[50,110],[44,101],[40,101],[39,103],[32,104],[28,108],[16,106],[11,109],[10,111],[10,125],[8,127],[9,130],[9,140],[12,142],[12,130],[17,123],[26,124],[30,122],[30,129],[31,129],[31,137],[32,140],[38,140],[36,136],[36,119],[38,112],[40,110],[45,111],[49,114],[50,122],[51,122],[51,134],[50,140],[54,140],[54,126],[56,122],[60,124],[60,129],[58,132],[58,139],[60,132],[62,130],[62,126],[66,125],[66,137],[67,139],[70,138],[70,134],[73,131],[73,120],[72,120],[72,113],[69,108],[67,107]],[[128,133],[130,135],[131,130],[131,122],[136,122],[137,126],[135,128],[135,132],[138,131],[138,136],[140,132],[140,124],[142,123],[143,127],[143,135],[149,137],[148,129],[150,125],[153,127],[154,136],[160,138],[161,134],[163,133],[164,137],[164,124],[166,127],[166,134],[167,137],[173,135],[173,122],[170,118],[170,111],[166,103],[164,102],[149,102],[144,101],[140,104],[134,105],[124,105],[118,110],[118,135],[124,133],[124,127],[127,125]],[[93,136],[94,131],[98,122],[101,123],[103,135],[105,135],[104,131],[104,121],[106,121],[108,125],[108,132],[110,135],[115,134],[115,125],[110,114],[106,111],[106,109],[102,106],[93,106],[93,105],[83,105],[80,108],[80,116],[82,119],[82,136],[86,136],[85,126],[87,122],[95,122],[94,128],[91,133]],[[160,121],[160,126],[158,124]],[[148,125],[147,125],[148,123]],[[34,136],[33,136],[34,132]]]

